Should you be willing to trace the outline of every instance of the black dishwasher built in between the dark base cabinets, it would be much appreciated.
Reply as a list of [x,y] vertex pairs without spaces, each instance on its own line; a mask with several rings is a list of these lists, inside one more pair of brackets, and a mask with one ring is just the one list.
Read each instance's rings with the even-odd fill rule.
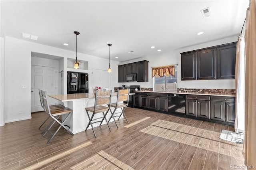
[[168,112],[171,115],[186,117],[186,95],[169,94]]

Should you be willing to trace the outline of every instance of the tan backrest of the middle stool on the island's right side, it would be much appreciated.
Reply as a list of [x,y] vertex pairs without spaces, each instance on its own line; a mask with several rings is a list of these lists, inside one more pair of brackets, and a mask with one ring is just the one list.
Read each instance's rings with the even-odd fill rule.
[[110,104],[111,93],[112,93],[112,90],[96,90],[96,93],[95,93],[95,106]]

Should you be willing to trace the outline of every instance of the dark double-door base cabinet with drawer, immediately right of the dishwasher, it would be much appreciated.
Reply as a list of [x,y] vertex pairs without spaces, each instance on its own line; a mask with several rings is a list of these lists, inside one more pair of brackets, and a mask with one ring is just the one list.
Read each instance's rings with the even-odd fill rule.
[[186,98],[186,115],[210,119],[210,97],[187,95]]

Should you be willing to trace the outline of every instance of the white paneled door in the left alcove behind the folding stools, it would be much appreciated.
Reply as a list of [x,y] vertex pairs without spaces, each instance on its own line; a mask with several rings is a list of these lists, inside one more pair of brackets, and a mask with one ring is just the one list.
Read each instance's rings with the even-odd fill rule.
[[[43,111],[39,98],[38,89],[46,91],[48,95],[56,93],[56,68],[31,66],[31,112]],[[54,105],[53,99],[49,98],[49,105]]]

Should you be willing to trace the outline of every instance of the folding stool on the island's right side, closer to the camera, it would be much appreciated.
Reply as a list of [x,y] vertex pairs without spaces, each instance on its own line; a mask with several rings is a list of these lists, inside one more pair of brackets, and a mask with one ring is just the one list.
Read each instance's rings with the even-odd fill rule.
[[[94,123],[100,123],[100,126],[101,126],[104,119],[106,120],[106,123],[108,125],[106,115],[109,111],[108,105],[110,104],[110,101],[111,101],[111,93],[112,93],[112,90],[108,90],[108,91],[106,91],[106,90],[96,90],[94,106],[85,108],[88,119],[89,119],[89,123],[88,123],[85,131],[87,130],[87,128],[90,125],[92,126],[92,124],[94,124]],[[92,113],[92,116],[89,115],[88,111]],[[106,112],[106,113],[104,113],[104,112]],[[102,113],[103,116],[93,119],[94,115],[97,114],[97,113]],[[98,120],[98,119],[101,119],[101,121],[95,121],[95,120]],[[92,122],[92,121],[94,121],[94,122]],[[111,131],[109,125],[108,125],[108,128]],[[96,137],[93,126],[92,126],[92,131],[94,133],[94,136]]]

